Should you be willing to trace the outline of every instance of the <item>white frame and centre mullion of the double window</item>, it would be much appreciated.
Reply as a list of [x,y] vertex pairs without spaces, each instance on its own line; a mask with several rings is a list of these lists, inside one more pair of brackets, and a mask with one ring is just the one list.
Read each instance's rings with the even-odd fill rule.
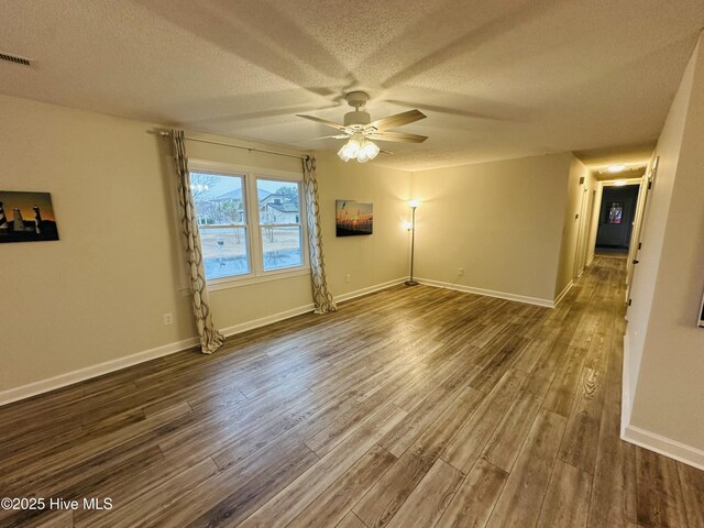
[[[304,177],[302,174],[278,169],[263,169],[260,167],[250,167],[243,165],[233,165],[221,162],[211,162],[205,160],[189,160],[188,170],[194,173],[213,174],[216,176],[239,176],[243,178],[243,195],[245,216],[243,224],[233,224],[233,227],[244,227],[246,231],[248,256],[250,264],[250,273],[240,275],[230,275],[228,277],[207,279],[208,289],[219,290],[250,284],[263,283],[268,280],[279,280],[283,278],[308,275],[310,273],[310,260],[308,256],[307,226],[304,221],[306,217],[306,200],[304,199]],[[300,224],[300,248],[302,264],[299,266],[285,267],[280,270],[264,271],[264,251],[262,243],[262,224],[260,223],[260,207],[257,180],[290,182],[298,184],[298,218]],[[278,226],[278,224],[275,224]],[[298,227],[298,224],[286,224]],[[229,226],[226,226],[229,227]],[[199,227],[200,229],[200,227]]]

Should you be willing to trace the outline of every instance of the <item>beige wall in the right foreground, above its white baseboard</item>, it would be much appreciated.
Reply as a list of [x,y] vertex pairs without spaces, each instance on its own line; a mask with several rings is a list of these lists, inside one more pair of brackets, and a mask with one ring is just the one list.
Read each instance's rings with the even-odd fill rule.
[[[704,51],[694,52],[660,156],[628,312],[630,425],[704,449]],[[651,302],[650,302],[651,301]],[[638,369],[639,366],[639,369]],[[701,463],[701,462],[700,462]]]

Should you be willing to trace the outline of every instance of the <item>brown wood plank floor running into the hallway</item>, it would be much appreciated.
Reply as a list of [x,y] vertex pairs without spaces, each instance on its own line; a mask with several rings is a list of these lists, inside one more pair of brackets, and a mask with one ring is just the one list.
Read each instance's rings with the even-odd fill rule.
[[0,526],[702,528],[704,472],[618,437],[624,268],[556,309],[398,286],[2,407],[0,495],[79,504]]

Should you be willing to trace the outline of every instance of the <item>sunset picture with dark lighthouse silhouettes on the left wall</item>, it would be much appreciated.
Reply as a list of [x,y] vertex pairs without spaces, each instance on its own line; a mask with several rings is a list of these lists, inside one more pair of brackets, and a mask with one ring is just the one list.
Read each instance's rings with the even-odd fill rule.
[[48,193],[0,190],[0,243],[58,240]]

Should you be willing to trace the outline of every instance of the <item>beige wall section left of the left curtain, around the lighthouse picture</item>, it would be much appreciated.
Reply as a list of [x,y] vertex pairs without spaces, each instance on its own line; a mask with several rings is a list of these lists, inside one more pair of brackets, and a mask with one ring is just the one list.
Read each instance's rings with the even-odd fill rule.
[[0,114],[0,187],[51,193],[61,237],[2,244],[0,391],[194,336],[150,124],[4,96]]

